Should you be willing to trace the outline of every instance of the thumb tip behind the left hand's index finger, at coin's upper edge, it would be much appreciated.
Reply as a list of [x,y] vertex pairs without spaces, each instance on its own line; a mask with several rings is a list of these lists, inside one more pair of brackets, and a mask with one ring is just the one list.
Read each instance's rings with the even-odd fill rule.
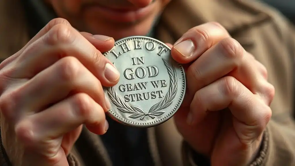
[[105,35],[92,35],[87,32],[80,32],[96,49],[101,53],[111,50],[115,45],[115,40],[112,37]]

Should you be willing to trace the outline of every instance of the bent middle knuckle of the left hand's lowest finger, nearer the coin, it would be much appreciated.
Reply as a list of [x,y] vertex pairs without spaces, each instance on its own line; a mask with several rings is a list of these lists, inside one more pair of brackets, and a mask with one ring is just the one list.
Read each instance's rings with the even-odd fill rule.
[[91,114],[92,102],[91,97],[86,93],[79,93],[74,97],[74,103],[77,106],[77,113],[79,117],[87,118]]

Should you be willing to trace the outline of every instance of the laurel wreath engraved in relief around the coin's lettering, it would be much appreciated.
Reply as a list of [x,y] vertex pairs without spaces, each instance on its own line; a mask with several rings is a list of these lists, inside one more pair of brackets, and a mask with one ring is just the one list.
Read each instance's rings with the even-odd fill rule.
[[170,85],[169,85],[169,91],[165,95],[165,98],[158,102],[157,104],[153,105],[148,112],[143,111],[141,108],[128,105],[119,97],[117,92],[115,91],[114,87],[108,88],[108,95],[111,99],[111,101],[114,103],[114,105],[117,106],[118,110],[120,110],[123,113],[130,113],[130,118],[140,118],[140,120],[143,120],[146,116],[151,117],[152,119],[155,118],[155,116],[162,115],[165,113],[162,111],[162,109],[167,108],[169,105],[171,105],[172,100],[176,96],[177,92],[177,74],[173,66],[171,66],[170,63],[168,63],[165,59],[162,59],[170,78]]

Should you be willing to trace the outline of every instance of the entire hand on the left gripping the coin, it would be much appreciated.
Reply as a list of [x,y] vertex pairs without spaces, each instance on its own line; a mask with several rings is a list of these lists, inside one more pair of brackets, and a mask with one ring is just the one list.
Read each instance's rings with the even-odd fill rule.
[[113,46],[54,19],[0,64],[1,137],[13,165],[68,165],[83,124],[106,132],[102,85],[117,84],[119,73],[101,52]]

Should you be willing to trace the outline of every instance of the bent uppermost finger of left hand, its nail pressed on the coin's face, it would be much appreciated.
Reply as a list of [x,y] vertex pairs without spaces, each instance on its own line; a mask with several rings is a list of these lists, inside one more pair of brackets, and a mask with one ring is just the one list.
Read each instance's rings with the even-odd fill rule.
[[23,51],[12,77],[32,78],[66,56],[77,58],[104,86],[119,81],[119,72],[112,63],[80,32],[64,24],[55,25]]

